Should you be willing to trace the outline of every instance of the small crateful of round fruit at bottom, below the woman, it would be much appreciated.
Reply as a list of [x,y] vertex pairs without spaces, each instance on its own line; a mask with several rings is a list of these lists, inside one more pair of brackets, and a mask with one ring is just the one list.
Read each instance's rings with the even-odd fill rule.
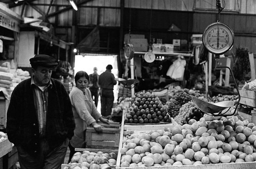
[[116,165],[116,153],[97,153],[84,150],[82,153],[76,152],[71,161],[70,167],[66,169],[111,169]]

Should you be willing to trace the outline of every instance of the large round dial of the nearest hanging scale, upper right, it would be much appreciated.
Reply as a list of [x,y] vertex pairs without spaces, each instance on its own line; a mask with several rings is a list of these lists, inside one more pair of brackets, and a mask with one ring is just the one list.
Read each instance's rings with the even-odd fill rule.
[[212,54],[221,55],[232,48],[234,32],[227,25],[216,22],[205,28],[203,32],[203,45]]

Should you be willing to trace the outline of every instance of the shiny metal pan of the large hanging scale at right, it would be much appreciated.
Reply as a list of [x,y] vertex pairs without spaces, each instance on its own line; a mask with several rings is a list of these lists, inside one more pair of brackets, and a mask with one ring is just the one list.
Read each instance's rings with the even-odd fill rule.
[[201,111],[207,114],[219,113],[226,108],[232,107],[235,104],[234,101],[220,101],[217,103],[208,103],[192,95],[190,95],[190,99]]

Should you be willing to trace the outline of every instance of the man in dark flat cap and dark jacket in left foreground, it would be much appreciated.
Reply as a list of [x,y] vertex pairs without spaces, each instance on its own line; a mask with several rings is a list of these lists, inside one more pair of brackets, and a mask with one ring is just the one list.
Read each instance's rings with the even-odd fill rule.
[[55,58],[38,54],[30,64],[32,77],[11,96],[8,140],[17,147],[22,169],[60,169],[75,128],[70,98],[63,84],[51,78]]

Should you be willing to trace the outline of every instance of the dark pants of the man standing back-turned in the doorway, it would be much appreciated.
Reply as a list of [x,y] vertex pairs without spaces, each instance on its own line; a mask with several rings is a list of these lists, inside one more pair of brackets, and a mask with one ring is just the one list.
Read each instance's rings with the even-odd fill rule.
[[103,116],[111,115],[114,102],[114,93],[112,89],[102,89],[101,95],[101,114]]

